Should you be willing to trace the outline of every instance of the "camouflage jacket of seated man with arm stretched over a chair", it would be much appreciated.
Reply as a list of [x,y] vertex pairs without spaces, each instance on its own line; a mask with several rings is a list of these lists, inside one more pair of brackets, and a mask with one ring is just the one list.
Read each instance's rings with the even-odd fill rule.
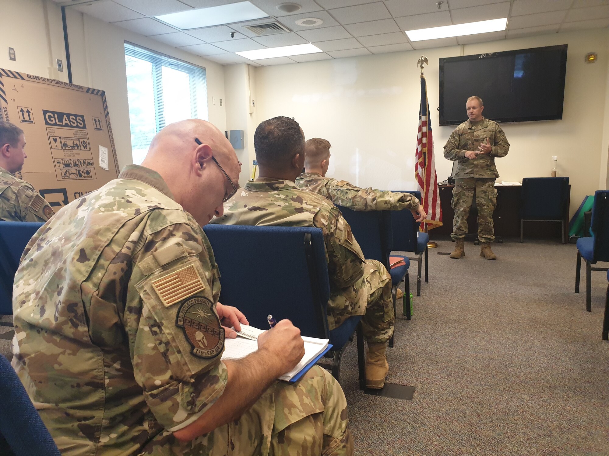
[[353,210],[417,209],[419,201],[410,193],[382,192],[373,188],[359,188],[347,181],[323,177],[319,173],[302,173],[296,179],[302,190],[319,193],[337,206]]

